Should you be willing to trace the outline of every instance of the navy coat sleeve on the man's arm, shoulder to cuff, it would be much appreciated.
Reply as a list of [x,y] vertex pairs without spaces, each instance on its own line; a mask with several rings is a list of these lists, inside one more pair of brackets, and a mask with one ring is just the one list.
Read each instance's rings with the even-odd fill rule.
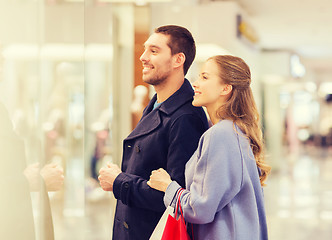
[[[197,148],[200,136],[205,131],[204,123],[194,115],[183,115],[174,121],[169,132],[169,148],[166,171],[171,178],[184,187],[185,164]],[[150,188],[147,179],[128,173],[121,173],[114,181],[113,193],[116,199],[128,206],[162,212],[164,193]]]

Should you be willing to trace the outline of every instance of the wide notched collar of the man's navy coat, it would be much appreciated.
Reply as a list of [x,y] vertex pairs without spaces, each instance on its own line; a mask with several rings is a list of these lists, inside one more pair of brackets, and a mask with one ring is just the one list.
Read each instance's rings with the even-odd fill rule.
[[143,112],[143,116],[136,128],[129,134],[126,140],[130,140],[142,135],[146,135],[155,130],[161,123],[161,112],[166,115],[170,115],[175,112],[179,107],[188,101],[193,100],[194,90],[187,79],[184,79],[184,83],[172,96],[164,101],[159,108],[152,110],[157,95],[155,94],[148,106]]

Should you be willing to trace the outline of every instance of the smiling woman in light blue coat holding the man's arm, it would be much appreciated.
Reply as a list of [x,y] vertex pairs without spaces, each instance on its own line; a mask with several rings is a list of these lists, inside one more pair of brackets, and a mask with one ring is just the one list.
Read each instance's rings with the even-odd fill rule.
[[[195,240],[268,238],[262,186],[270,167],[250,83],[247,64],[226,55],[209,58],[193,84],[193,105],[205,106],[213,123],[186,165],[180,199]],[[152,171],[148,185],[175,205],[181,187],[164,169]]]

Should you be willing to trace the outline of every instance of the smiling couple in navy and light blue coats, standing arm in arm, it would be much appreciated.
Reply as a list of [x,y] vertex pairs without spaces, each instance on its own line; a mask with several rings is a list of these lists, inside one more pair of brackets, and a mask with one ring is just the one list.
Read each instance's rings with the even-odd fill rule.
[[124,140],[121,169],[99,172],[117,199],[113,240],[148,240],[182,188],[195,240],[267,239],[262,186],[270,167],[249,67],[238,57],[211,57],[193,91],[184,78],[196,52],[187,29],[159,27],[144,47],[143,80],[156,95]]

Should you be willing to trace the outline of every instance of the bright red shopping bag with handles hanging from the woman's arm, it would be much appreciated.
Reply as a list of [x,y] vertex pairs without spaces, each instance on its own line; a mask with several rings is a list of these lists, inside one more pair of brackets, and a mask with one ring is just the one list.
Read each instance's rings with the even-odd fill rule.
[[[180,204],[180,196],[183,190],[184,189],[181,189],[178,195],[175,216],[168,215],[161,240],[190,240]],[[179,219],[177,219],[178,209],[180,209],[181,212]]]

